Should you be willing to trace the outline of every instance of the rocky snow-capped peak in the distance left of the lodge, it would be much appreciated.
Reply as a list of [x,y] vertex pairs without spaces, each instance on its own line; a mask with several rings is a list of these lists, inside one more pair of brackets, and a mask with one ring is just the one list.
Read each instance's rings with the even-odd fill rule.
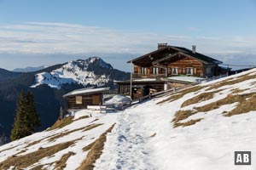
[[35,75],[35,83],[31,88],[47,84],[51,88],[61,88],[63,84],[78,83],[83,86],[104,86],[111,80],[113,67],[98,57],[69,61],[50,72]]

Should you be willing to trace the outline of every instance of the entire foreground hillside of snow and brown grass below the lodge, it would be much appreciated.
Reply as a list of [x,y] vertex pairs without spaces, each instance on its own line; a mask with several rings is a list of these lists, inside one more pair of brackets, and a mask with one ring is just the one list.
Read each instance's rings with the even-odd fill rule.
[[117,113],[79,111],[65,127],[1,146],[0,169],[255,169],[234,165],[234,151],[256,152],[255,96],[253,69]]

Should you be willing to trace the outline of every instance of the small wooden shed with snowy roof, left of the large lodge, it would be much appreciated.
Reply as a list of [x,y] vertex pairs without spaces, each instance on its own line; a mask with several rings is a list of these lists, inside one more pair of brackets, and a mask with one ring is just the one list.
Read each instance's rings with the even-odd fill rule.
[[109,88],[81,88],[63,95],[67,109],[87,109],[87,105],[102,105],[103,94]]

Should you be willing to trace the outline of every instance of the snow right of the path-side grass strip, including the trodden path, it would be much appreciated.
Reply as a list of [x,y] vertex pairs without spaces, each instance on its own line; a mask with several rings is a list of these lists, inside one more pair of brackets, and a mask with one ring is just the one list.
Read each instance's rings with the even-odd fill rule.
[[[207,92],[207,88],[218,82],[238,80],[250,74],[252,79],[229,86],[213,88],[212,99],[181,107],[184,101]],[[256,106],[253,111],[224,116],[224,111],[236,108],[237,102],[221,105],[218,109],[198,112],[183,122],[202,118],[201,122],[186,127],[174,128],[172,122],[176,111],[189,110],[195,106],[213,103],[234,94],[256,92],[256,70],[201,85],[199,91],[185,94],[172,102],[153,99],[120,113],[113,133],[108,134],[103,154],[96,161],[95,169],[160,169],[160,170],[233,170],[256,169]],[[245,91],[242,91],[242,90]],[[217,90],[220,90],[219,92]],[[153,137],[154,136],[154,137]],[[252,166],[235,166],[234,151],[252,151]]]

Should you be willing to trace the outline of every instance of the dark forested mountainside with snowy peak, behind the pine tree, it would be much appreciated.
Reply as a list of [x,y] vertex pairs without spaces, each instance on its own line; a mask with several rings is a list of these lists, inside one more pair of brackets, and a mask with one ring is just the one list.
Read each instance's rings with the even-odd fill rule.
[[[49,77],[44,79],[44,75]],[[42,77],[42,81],[38,82],[36,77]],[[3,133],[9,136],[16,101],[21,90],[29,90],[34,94],[36,108],[42,120],[42,126],[38,129],[40,131],[51,126],[59,115],[60,107],[65,107],[63,94],[84,86],[113,88],[113,80],[124,80],[129,77],[129,73],[116,70],[96,57],[52,65],[34,72],[19,73],[0,69],[0,123],[3,125]],[[56,85],[56,82],[59,83]],[[34,88],[31,88],[32,85]],[[52,85],[56,85],[57,88],[51,88]]]

